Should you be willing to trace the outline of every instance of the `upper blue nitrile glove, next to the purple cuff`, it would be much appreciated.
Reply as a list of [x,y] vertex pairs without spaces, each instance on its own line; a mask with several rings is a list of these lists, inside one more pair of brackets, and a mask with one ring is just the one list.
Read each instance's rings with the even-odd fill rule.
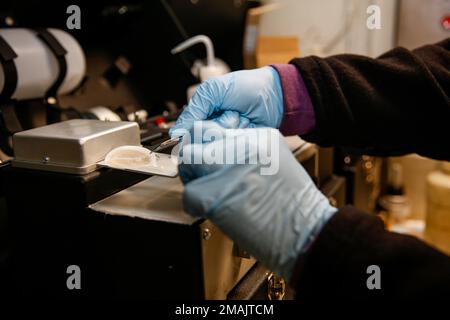
[[175,136],[177,129],[190,130],[198,120],[214,119],[224,126],[225,111],[238,112],[239,128],[278,128],[283,118],[283,92],[277,71],[263,67],[208,79],[197,88],[170,135]]

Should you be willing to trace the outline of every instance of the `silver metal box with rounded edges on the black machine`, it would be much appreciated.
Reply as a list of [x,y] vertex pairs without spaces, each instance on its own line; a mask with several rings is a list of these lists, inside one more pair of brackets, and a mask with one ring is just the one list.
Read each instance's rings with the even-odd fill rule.
[[135,122],[75,119],[16,133],[14,167],[86,174],[116,147],[140,146]]

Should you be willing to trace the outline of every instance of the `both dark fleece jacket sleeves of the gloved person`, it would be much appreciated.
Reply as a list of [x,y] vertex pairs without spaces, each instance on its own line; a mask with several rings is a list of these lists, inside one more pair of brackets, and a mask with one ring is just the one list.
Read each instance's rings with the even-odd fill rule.
[[[337,55],[291,63],[316,115],[305,140],[363,154],[450,160],[450,39],[413,51],[396,48],[377,59]],[[380,267],[381,290],[367,288],[370,265]],[[450,257],[348,206],[299,257],[293,285],[298,299],[448,298]]]

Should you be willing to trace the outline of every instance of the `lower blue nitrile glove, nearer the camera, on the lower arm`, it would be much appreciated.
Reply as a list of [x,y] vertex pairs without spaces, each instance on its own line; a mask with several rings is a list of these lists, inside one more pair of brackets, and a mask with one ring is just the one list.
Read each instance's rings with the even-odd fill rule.
[[[195,137],[197,143],[184,142],[181,152],[185,210],[210,219],[266,267],[290,279],[299,254],[337,209],[316,188],[278,130],[225,130],[212,121],[200,123],[203,137]],[[211,161],[230,155],[234,163],[246,164]],[[255,155],[258,161],[249,164]],[[185,163],[195,157],[203,164]]]

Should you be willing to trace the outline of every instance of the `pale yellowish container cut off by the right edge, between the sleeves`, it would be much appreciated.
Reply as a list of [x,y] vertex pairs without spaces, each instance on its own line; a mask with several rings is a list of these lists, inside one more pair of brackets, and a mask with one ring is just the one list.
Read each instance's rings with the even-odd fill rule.
[[450,254],[450,162],[427,177],[425,239]]

